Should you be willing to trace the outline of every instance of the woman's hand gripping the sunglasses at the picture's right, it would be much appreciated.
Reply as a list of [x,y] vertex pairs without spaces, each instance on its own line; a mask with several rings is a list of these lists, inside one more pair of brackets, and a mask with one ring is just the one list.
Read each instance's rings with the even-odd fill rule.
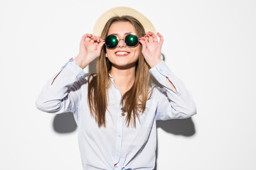
[[160,38],[159,42],[156,35],[152,32],[148,32],[144,37],[139,38],[139,42],[142,43],[142,55],[144,55],[144,58],[150,67],[154,67],[162,61],[161,46],[163,45],[164,38],[159,33],[157,33],[157,35]]

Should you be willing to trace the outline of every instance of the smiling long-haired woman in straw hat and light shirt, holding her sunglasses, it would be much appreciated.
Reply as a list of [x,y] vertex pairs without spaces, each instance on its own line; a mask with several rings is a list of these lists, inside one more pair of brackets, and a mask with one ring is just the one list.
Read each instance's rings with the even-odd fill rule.
[[[117,7],[95,26],[101,22],[100,36],[82,36],[78,56],[48,81],[36,106],[74,113],[83,169],[154,169],[156,120],[189,118],[196,105],[161,60],[163,36],[146,17]],[[85,74],[95,59],[97,72]]]

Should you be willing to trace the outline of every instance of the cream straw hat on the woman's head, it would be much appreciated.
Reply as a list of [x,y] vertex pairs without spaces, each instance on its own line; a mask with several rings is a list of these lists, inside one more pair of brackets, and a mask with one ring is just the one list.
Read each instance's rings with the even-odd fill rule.
[[105,24],[113,16],[132,16],[136,18],[140,23],[142,23],[142,26],[144,27],[144,30],[146,32],[151,31],[153,33],[156,33],[156,29],[154,28],[153,24],[149,21],[148,18],[146,18],[146,16],[142,15],[142,13],[139,13],[139,11],[136,11],[134,8],[118,6],[109,9],[108,11],[103,13],[100,18],[97,19],[92,34],[100,36]]

